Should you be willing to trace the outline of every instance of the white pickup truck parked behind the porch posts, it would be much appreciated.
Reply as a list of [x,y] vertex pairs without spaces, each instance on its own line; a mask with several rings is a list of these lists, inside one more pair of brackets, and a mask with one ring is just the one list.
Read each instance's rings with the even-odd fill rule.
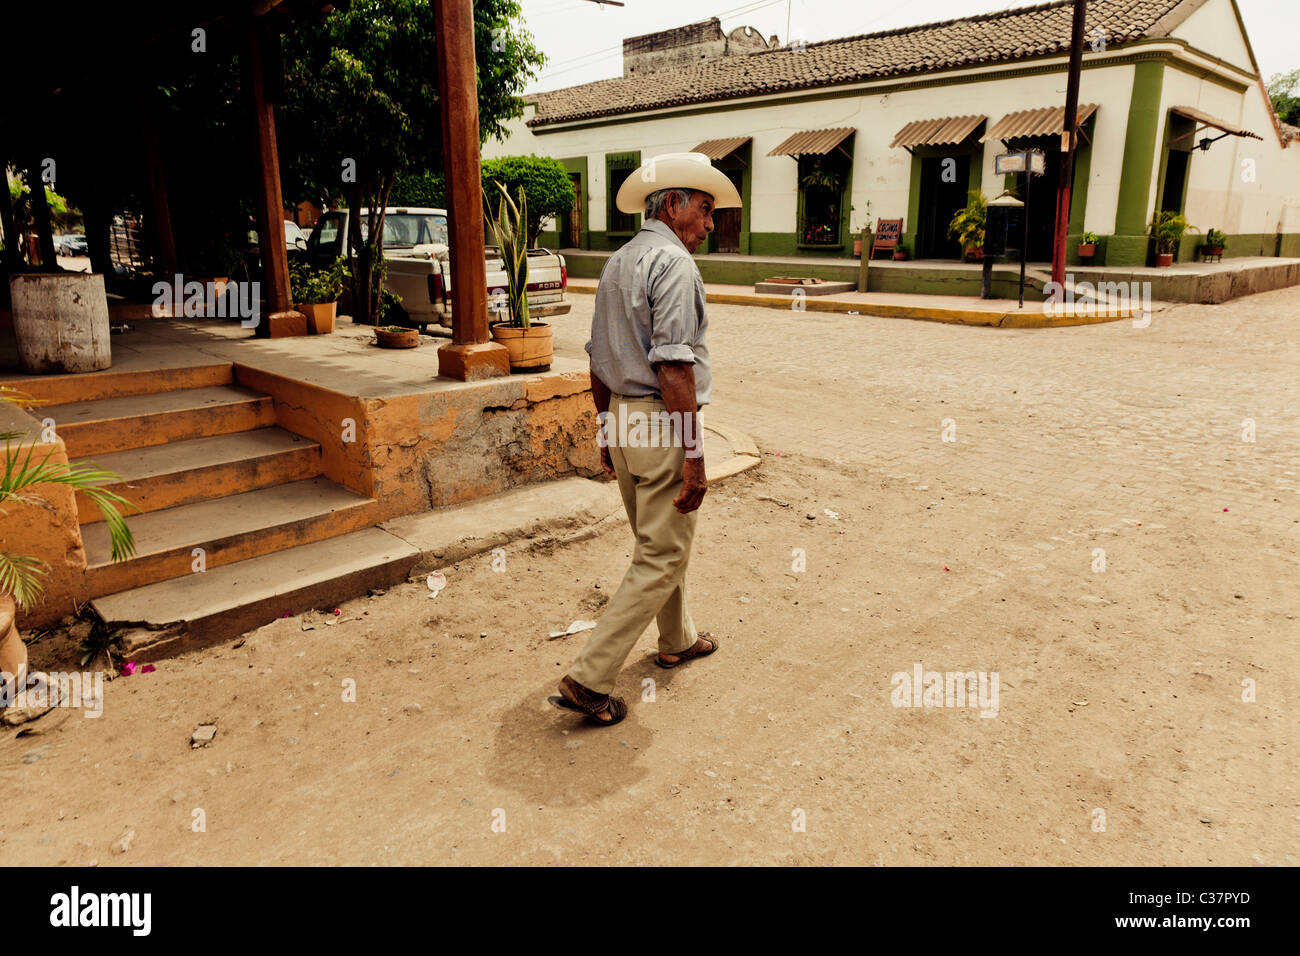
[[[367,211],[361,209],[361,228]],[[307,241],[313,265],[326,265],[348,254],[347,211],[322,215]],[[504,308],[506,272],[495,246],[488,246],[488,307]],[[451,328],[451,268],[447,259],[447,212],[421,207],[394,207],[384,213],[384,259],[389,264],[384,285],[402,297],[406,319],[421,328]],[[528,311],[532,317],[569,311],[568,267],[564,256],[545,248],[528,250]]]

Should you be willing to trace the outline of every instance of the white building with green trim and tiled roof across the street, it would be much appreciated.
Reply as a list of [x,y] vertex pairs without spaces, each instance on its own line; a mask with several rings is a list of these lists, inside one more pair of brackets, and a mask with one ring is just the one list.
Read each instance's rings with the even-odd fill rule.
[[[848,256],[870,216],[902,219],[915,258],[956,259],[946,226],[967,190],[1023,198],[993,160],[1037,148],[1048,176],[1032,185],[1030,251],[1045,260],[1071,9],[771,48],[716,20],[629,38],[625,75],[528,98],[484,156],[569,170],[578,202],[549,246],[616,248],[640,228],[614,206],[623,178],[642,157],[702,150],[745,200],[702,251]],[[1227,234],[1225,255],[1300,256],[1300,130],[1277,121],[1234,0],[1091,0],[1086,33],[1071,256],[1087,230],[1101,237],[1095,264],[1147,264],[1160,209]]]

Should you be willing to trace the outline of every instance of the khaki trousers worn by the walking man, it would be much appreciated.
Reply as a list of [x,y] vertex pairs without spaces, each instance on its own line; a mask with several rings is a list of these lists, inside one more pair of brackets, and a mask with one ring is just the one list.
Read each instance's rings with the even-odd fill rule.
[[[624,421],[629,412],[653,415],[660,411],[667,412],[667,406],[659,398],[610,398],[611,428]],[[614,691],[623,662],[651,619],[659,624],[659,652],[663,654],[680,654],[697,639],[686,610],[686,564],[698,511],[682,515],[672,506],[682,486],[685,450],[680,440],[659,445],[632,447],[610,441],[610,460],[619,477],[636,546],[632,567],[569,669],[573,680],[597,693]]]

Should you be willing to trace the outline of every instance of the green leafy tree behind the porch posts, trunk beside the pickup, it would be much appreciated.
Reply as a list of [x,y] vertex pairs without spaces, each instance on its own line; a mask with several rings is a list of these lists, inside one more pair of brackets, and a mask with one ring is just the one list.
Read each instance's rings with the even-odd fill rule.
[[[484,139],[502,138],[504,122],[523,114],[523,87],[545,62],[519,17],[516,0],[474,3]],[[315,183],[344,198],[354,308],[373,324],[384,208],[398,176],[443,166],[437,39],[429,0],[358,0],[285,38],[285,139],[299,144],[286,164],[287,191]]]

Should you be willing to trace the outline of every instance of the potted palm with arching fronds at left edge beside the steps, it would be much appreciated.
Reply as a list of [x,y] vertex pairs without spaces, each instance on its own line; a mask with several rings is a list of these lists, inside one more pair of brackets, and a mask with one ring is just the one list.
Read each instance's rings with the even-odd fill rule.
[[[4,407],[22,407],[31,405],[35,399],[17,389],[0,385],[0,411]],[[55,450],[51,447],[44,458],[32,463],[36,442],[32,441],[26,451],[22,440],[26,432],[4,432],[0,438],[5,442],[5,467],[0,475],[0,515],[8,514],[4,505],[30,503],[47,506],[48,503],[32,489],[38,485],[60,484],[82,492],[88,497],[108,525],[108,537],[112,545],[113,561],[126,561],[135,553],[135,538],[131,529],[126,527],[121,507],[134,507],[118,494],[107,490],[103,485],[121,481],[121,476],[104,471],[94,464],[81,462],[51,462]],[[14,447],[14,440],[18,441]],[[42,578],[49,574],[49,566],[40,558],[30,554],[12,554],[0,551],[0,672],[12,675],[17,687],[5,687],[4,698],[13,700],[13,691],[25,687],[27,671],[27,648],[22,643],[22,635],[14,623],[14,615],[20,610],[27,610],[40,598],[44,589]]]

